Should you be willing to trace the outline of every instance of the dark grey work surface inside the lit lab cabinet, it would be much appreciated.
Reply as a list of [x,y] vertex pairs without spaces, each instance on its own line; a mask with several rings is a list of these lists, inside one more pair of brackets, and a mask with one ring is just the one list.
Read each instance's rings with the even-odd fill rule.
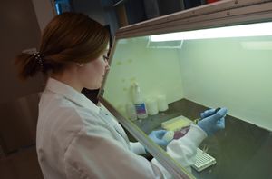
[[[170,104],[166,113],[151,116],[145,120],[136,121],[142,131],[149,134],[151,130],[160,128],[160,123],[177,115],[189,119],[199,117],[205,106],[183,99]],[[249,124],[238,118],[227,115],[226,128],[206,138],[200,148],[208,147],[208,154],[215,157],[217,164],[197,172],[196,178],[229,179],[229,178],[270,178],[269,167],[272,165],[272,132]],[[269,177],[270,176],[270,177]]]

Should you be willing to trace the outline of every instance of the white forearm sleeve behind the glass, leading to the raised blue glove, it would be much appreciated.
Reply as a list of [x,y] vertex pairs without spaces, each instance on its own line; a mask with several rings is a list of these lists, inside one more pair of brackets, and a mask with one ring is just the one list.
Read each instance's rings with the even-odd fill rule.
[[[206,137],[207,134],[198,125],[192,124],[187,134],[167,145],[167,154],[191,172],[190,166],[196,162],[197,148]],[[170,178],[168,171],[155,158],[151,162],[160,168],[165,178]]]

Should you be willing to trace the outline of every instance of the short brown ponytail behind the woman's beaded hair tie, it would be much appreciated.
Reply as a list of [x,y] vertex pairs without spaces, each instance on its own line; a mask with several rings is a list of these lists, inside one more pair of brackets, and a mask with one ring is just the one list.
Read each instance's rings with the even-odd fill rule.
[[39,53],[24,54],[16,56],[15,65],[18,69],[18,76],[22,80],[33,77],[43,70],[43,59]]

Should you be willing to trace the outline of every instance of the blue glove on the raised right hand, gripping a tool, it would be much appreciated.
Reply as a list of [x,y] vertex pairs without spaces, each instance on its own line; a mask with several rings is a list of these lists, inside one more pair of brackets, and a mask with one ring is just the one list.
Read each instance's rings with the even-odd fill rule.
[[206,110],[201,113],[201,120],[199,121],[199,127],[205,131],[208,136],[215,134],[219,129],[225,128],[225,116],[227,114],[226,108],[219,109],[216,112],[215,109]]

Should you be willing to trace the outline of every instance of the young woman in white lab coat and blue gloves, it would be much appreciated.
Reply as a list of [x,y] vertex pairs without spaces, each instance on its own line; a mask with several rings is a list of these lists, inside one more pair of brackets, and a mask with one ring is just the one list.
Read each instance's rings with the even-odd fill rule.
[[[81,94],[84,87],[101,87],[110,67],[108,44],[109,34],[102,25],[86,15],[63,13],[44,29],[39,52],[15,60],[21,78],[39,71],[47,76],[36,137],[45,179],[170,177],[155,159],[149,162],[138,155],[145,153],[144,147],[129,142],[121,125]],[[168,154],[185,167],[194,163],[196,149],[208,132],[224,127],[227,110],[212,113],[207,111],[199,125],[168,144]],[[160,133],[152,132],[151,139],[167,144]]]

